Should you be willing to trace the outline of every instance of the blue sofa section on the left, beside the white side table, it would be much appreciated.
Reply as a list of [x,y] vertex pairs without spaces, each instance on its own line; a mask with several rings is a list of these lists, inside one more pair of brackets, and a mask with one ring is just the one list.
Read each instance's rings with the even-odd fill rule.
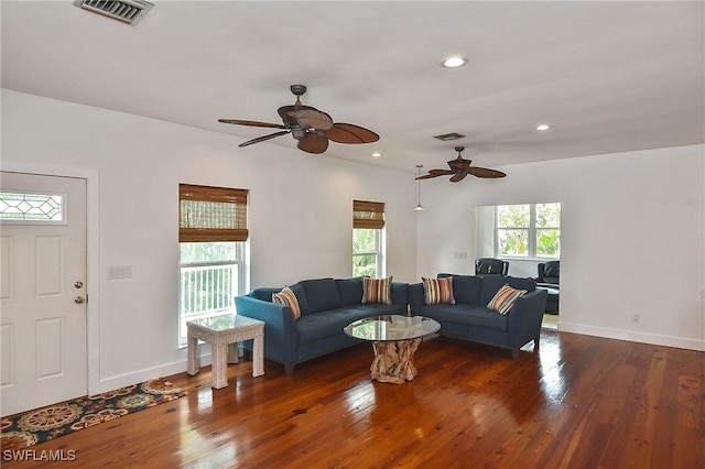
[[[370,316],[406,314],[406,283],[391,283],[392,304],[361,303],[362,279],[304,280],[290,288],[296,295],[301,317],[294,319],[289,306],[272,303],[282,288],[256,288],[237,296],[237,314],[263,320],[264,358],[284,364],[288,375],[305,360],[360,343],[343,328]],[[251,350],[251,343],[245,347]]]

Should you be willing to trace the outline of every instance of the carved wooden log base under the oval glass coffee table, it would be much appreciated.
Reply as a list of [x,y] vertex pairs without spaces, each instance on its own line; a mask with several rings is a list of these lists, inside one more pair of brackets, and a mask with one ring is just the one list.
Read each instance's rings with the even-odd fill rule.
[[382,383],[402,384],[412,381],[417,373],[414,352],[421,338],[405,340],[373,341],[375,360],[370,367],[373,380]]

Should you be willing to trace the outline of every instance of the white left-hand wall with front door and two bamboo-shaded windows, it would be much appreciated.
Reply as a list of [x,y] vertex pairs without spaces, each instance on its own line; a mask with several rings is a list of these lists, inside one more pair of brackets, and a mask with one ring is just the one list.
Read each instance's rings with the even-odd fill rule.
[[[178,183],[250,189],[251,287],[350,276],[355,198],[387,204],[388,275],[415,279],[411,173],[240,141],[2,90],[2,168],[88,178],[89,392],[186,369]],[[132,277],[108,280],[112,265]]]

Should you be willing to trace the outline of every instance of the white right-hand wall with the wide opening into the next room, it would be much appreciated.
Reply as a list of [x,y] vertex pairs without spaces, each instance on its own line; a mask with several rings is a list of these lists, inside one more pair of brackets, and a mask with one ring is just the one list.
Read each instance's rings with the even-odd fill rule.
[[473,257],[454,254],[475,249],[474,206],[560,201],[560,328],[705,350],[704,149],[512,165],[498,181],[431,179],[419,274],[473,272]]

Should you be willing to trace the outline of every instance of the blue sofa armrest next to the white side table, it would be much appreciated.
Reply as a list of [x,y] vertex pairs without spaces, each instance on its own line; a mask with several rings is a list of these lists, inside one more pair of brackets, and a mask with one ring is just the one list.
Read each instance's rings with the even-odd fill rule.
[[264,321],[264,357],[281,363],[297,359],[297,331],[289,306],[278,305],[251,296],[236,296],[237,314]]

